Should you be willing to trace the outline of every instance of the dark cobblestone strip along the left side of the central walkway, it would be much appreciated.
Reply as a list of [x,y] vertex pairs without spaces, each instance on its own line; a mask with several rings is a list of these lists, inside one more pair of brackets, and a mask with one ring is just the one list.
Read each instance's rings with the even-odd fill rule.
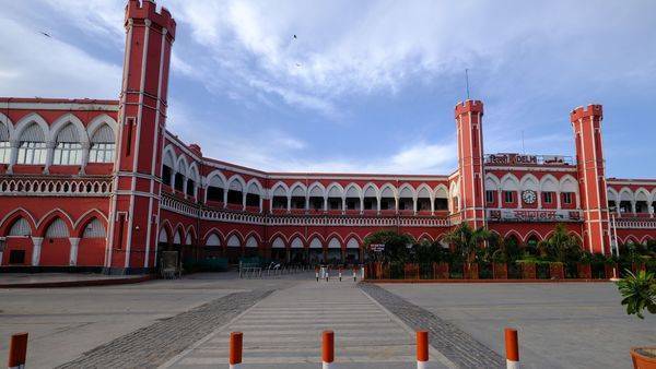
[[226,295],[128,333],[58,368],[156,368],[271,293]]

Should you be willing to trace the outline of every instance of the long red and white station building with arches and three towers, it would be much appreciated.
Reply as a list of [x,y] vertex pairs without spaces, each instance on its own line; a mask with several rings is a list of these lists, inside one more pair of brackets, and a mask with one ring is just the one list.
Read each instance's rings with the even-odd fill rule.
[[125,26],[118,100],[0,98],[3,270],[139,273],[163,249],[350,262],[376,230],[435,241],[462,222],[519,243],[565,223],[600,253],[656,239],[656,180],[606,177],[600,105],[570,114],[574,158],[484,154],[483,103],[467,100],[452,174],[267,172],[166,130],[176,23],[130,0]]

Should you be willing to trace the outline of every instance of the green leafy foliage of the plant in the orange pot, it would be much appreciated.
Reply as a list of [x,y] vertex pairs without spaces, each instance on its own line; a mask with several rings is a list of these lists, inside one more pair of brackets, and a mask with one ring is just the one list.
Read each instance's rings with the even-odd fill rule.
[[640,271],[633,274],[626,271],[629,276],[620,279],[618,288],[622,294],[622,305],[626,306],[626,313],[636,314],[644,319],[643,311],[656,313],[656,278],[653,273]]

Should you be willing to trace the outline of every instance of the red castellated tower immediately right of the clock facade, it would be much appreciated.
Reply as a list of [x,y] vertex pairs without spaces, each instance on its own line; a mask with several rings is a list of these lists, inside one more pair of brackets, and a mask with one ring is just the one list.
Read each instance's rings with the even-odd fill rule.
[[584,247],[590,252],[610,252],[608,200],[601,105],[578,107],[570,114],[576,142],[576,168],[584,219]]

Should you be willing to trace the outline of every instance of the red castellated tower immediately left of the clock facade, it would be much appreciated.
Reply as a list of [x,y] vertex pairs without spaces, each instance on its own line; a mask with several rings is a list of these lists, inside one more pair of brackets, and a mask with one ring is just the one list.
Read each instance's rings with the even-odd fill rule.
[[[478,228],[485,226],[483,175],[483,103],[466,100],[455,108],[458,133],[460,219]],[[454,205],[457,206],[457,205]],[[454,209],[455,213],[456,209]]]

